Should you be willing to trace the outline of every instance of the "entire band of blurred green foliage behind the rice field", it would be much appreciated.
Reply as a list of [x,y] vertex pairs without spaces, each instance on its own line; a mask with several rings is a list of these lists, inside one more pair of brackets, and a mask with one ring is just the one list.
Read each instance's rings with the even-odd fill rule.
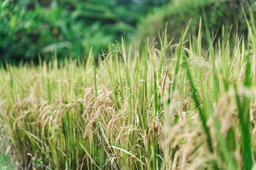
[[[168,21],[168,34],[178,42],[183,26],[192,18],[191,35],[203,18],[203,40],[209,42],[222,26],[232,35],[246,33],[241,7],[245,0],[5,0],[0,2],[0,62],[85,57],[90,48],[97,57],[121,35],[127,41],[158,38]],[[247,11],[247,10],[245,10]],[[255,11],[253,11],[255,12]],[[238,24],[238,25],[237,25]]]

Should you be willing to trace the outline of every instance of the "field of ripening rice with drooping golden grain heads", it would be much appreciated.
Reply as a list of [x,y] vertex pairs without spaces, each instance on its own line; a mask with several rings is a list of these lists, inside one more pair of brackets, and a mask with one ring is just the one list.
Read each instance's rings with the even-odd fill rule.
[[[0,68],[1,169],[255,169],[256,29]],[[245,40],[246,39],[246,40]],[[234,42],[234,43],[233,43]],[[93,48],[92,48],[93,50]],[[9,159],[4,163],[2,159]]]

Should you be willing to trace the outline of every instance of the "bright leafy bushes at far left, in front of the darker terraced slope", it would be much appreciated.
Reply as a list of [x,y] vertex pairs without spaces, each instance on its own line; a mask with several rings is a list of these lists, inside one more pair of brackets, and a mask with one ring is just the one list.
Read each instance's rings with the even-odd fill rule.
[[0,62],[37,60],[38,54],[47,60],[54,49],[59,57],[79,57],[91,46],[99,52],[113,40],[98,22],[85,26],[56,1],[48,8],[36,4],[33,10],[10,3],[0,15]]

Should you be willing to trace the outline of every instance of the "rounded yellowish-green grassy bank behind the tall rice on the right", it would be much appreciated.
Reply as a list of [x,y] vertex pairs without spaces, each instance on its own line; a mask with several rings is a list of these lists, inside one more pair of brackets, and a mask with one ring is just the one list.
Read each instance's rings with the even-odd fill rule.
[[[210,45],[210,38],[216,34],[216,39],[223,38],[222,29],[230,32],[230,45],[234,45],[236,33],[247,34],[247,24],[242,8],[252,8],[256,14],[254,0],[173,0],[167,6],[156,8],[154,12],[142,17],[137,29],[137,36],[144,40],[146,37],[159,38],[159,30],[164,31],[168,21],[169,38],[178,42],[181,37],[181,30],[192,18],[188,33],[198,33],[198,23],[202,17],[202,42],[203,48],[207,50]],[[249,11],[245,11],[249,17]],[[224,27],[223,27],[224,26]],[[230,29],[232,28],[232,29]],[[171,39],[170,39],[171,40]]]

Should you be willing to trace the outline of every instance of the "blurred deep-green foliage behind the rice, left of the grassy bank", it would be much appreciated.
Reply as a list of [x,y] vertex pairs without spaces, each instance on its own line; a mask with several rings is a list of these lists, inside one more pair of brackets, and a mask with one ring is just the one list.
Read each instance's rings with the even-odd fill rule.
[[93,54],[106,50],[121,34],[132,37],[139,17],[165,0],[112,1],[62,0],[0,2],[0,62],[38,63],[51,60],[54,51],[58,60],[84,57],[93,46]]

